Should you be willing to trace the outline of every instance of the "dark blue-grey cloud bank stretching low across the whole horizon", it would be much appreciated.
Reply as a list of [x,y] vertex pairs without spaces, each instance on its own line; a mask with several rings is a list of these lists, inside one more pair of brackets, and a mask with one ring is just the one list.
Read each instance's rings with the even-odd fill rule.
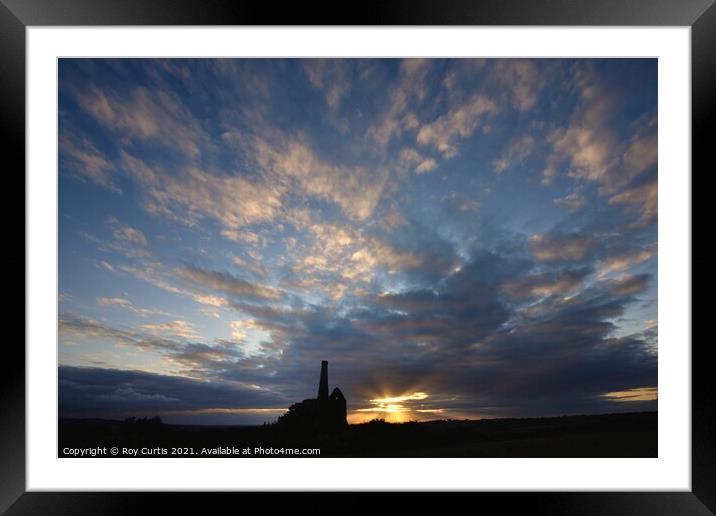
[[[241,357],[220,344],[125,335],[130,345],[160,346],[202,379],[63,366],[60,414],[221,421],[206,409],[242,409],[241,421],[271,420],[276,414],[246,409],[282,408],[313,396],[321,359],[330,361],[331,380],[346,392],[349,410],[384,393],[410,392],[428,393],[419,407],[442,409],[445,417],[655,409],[656,401],[604,396],[657,383],[653,335],[615,336],[613,323],[649,276],[593,279],[570,295],[589,266],[550,267],[528,254],[481,251],[428,286],[354,300],[345,309],[247,304],[237,297],[232,302],[271,329],[280,355]],[[95,334],[117,331],[70,322]]]

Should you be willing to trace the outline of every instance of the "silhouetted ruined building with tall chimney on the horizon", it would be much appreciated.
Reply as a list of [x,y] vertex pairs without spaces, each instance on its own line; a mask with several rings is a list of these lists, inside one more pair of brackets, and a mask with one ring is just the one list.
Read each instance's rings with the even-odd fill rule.
[[318,398],[309,398],[294,403],[288,412],[278,418],[279,425],[301,431],[337,432],[348,426],[346,420],[346,398],[336,387],[328,395],[328,362],[321,362],[321,379],[318,384]]

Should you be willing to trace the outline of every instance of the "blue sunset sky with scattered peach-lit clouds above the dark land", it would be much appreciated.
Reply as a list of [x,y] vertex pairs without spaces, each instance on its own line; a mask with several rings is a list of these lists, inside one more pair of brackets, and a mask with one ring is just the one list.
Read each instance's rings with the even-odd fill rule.
[[657,408],[655,59],[60,59],[60,417]]

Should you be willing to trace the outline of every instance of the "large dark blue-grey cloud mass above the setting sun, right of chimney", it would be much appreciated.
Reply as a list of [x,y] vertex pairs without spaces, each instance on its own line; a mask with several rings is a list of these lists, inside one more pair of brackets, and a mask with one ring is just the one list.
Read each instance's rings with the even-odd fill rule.
[[[656,361],[646,343],[609,338],[610,321],[624,312],[633,288],[609,282],[583,288],[586,271],[550,277],[529,275],[530,268],[482,254],[437,288],[384,294],[371,308],[325,323],[312,314],[308,340],[300,330],[293,333],[304,343],[302,352],[296,348],[284,358],[304,363],[318,359],[312,350],[331,349],[351,364],[350,371],[341,370],[349,399],[371,386],[373,393],[424,392],[450,400],[433,409],[473,415],[488,406],[492,415],[609,412],[617,409],[601,397],[604,392],[654,381]],[[573,295],[525,319],[499,295],[509,280],[520,279],[526,294],[562,287]],[[366,361],[369,366],[357,365]],[[357,406],[377,398],[366,396]]]

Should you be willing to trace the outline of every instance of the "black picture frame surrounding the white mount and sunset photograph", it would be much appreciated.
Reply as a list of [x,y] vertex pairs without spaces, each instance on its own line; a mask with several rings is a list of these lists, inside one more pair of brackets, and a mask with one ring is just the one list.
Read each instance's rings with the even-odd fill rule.
[[[707,134],[713,133],[716,120],[716,6],[713,4],[713,0],[364,0],[356,4],[334,3],[334,7],[330,7],[319,3],[276,6],[243,0],[0,0],[0,117],[5,133],[2,148],[5,163],[13,163],[11,167],[3,167],[5,177],[19,181],[17,188],[25,192],[25,29],[46,25],[690,26],[692,169],[706,173],[706,160],[712,146]],[[7,220],[16,219],[14,215]],[[19,224],[14,225],[19,228]],[[22,267],[26,258],[23,254]],[[18,267],[19,261],[18,256],[11,258],[11,264]],[[482,505],[489,500],[500,504],[503,511],[522,507],[541,514],[712,514],[716,511],[716,410],[711,394],[712,366],[706,358],[708,344],[700,342],[692,346],[690,492],[475,493],[469,496],[478,500],[468,503]],[[142,514],[149,512],[149,501],[158,502],[167,512],[172,506],[179,512],[206,508],[194,505],[205,504],[205,501],[185,493],[26,492],[25,353],[19,339],[6,342],[3,358],[0,511],[7,514]],[[235,497],[240,496],[244,507],[249,503],[267,502],[266,498],[258,499],[261,494],[257,493],[221,496],[228,503],[235,503]],[[374,502],[370,498],[375,496],[349,494],[339,502],[345,509],[338,512],[350,513],[351,508],[371,510]],[[357,500],[359,497],[361,500]],[[416,494],[411,499],[413,503],[422,503],[422,495]],[[275,508],[283,500],[284,495],[272,494],[270,506]],[[308,501],[304,495],[291,497],[294,508],[304,503],[311,509],[315,507],[315,502]],[[332,503],[335,502],[326,507]],[[403,509],[408,510],[405,506]]]

